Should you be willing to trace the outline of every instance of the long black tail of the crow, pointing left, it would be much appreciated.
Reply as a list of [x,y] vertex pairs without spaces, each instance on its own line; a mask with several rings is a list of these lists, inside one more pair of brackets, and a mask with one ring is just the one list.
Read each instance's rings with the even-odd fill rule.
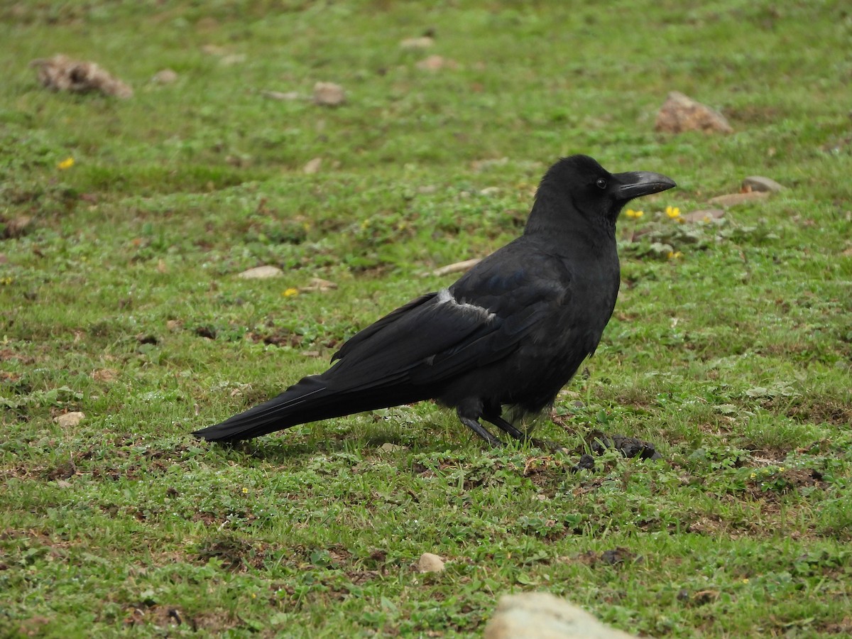
[[304,377],[282,394],[222,423],[193,431],[209,441],[250,440],[299,423],[316,422],[355,412],[398,406],[426,399],[422,391],[408,389],[329,389],[322,376]]

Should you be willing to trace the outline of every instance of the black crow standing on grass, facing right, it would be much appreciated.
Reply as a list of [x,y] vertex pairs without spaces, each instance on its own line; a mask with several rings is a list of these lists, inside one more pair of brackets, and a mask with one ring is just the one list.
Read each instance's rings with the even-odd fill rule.
[[246,440],[432,399],[491,446],[503,442],[480,419],[526,440],[513,421],[553,404],[613,314],[621,208],[674,186],[658,173],[609,173],[586,155],[561,158],[544,174],[521,237],[356,333],[321,375],[193,435]]

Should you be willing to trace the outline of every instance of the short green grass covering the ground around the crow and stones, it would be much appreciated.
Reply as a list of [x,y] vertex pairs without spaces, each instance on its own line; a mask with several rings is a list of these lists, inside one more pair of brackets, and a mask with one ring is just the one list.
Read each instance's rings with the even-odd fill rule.
[[[0,634],[464,636],[527,590],[645,635],[852,632],[849,12],[573,5],[0,4]],[[134,97],[41,89],[59,52]],[[654,133],[670,90],[735,133]],[[575,456],[430,404],[187,435],[515,237],[569,153],[679,185],[619,222],[613,320],[538,424]],[[787,188],[663,212],[755,174]],[[570,472],[594,429],[665,461]]]

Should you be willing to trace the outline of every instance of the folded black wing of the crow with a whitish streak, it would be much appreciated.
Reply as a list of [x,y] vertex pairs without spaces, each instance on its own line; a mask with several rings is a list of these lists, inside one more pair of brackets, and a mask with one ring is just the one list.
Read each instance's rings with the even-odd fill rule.
[[418,297],[354,335],[321,376],[326,388],[441,383],[514,352],[544,315],[565,302],[567,275],[542,256],[511,259],[511,246],[449,290]]

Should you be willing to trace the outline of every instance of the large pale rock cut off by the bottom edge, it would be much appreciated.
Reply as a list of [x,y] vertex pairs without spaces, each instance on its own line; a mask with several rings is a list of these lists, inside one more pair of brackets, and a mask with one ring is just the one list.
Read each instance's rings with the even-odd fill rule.
[[500,598],[485,628],[485,639],[630,639],[603,625],[582,608],[548,592]]

